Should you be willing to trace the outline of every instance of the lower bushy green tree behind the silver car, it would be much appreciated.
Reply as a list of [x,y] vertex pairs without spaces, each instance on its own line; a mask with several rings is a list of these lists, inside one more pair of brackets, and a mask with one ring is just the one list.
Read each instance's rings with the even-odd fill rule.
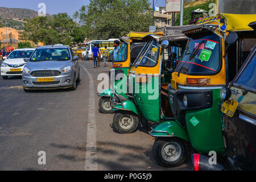
[[[71,45],[72,35],[79,30],[77,24],[67,13],[24,20],[26,21],[24,23],[24,38],[35,43],[43,42],[45,45]],[[83,42],[84,38],[85,36],[80,36],[79,41]]]

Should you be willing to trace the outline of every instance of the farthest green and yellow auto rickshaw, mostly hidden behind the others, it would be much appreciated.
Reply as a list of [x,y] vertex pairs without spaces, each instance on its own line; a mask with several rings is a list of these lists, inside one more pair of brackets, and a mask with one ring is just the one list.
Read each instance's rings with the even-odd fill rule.
[[[98,103],[99,110],[105,114],[111,114],[115,111],[112,110],[110,105],[110,96],[112,94],[112,89],[118,85],[119,82],[122,81],[123,78],[127,77],[129,73],[129,65],[133,64],[139,53],[142,51],[144,47],[144,40],[142,38],[146,35],[150,34],[149,32],[130,32],[126,37],[119,38],[121,42],[123,42],[122,47],[118,53],[117,61],[113,63],[113,67],[111,72],[113,78],[111,80],[112,88],[106,89],[101,93],[98,93],[98,96],[101,96],[100,101]],[[123,76],[124,75],[124,76]],[[110,76],[111,77],[111,76]],[[122,89],[126,89],[125,88]],[[121,92],[120,90],[115,90],[118,94],[121,94],[123,97],[127,98],[126,92]]]

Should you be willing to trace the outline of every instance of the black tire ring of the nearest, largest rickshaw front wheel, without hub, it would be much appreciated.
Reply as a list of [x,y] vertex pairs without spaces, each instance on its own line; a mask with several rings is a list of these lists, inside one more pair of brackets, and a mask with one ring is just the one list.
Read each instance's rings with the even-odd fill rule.
[[[179,158],[177,158],[173,162],[165,160],[163,158],[162,152],[161,152],[163,147],[169,142],[176,142],[181,147],[181,154],[180,154]],[[167,139],[156,139],[154,142],[154,145],[152,147],[153,156],[154,156],[156,163],[158,163],[159,166],[167,167],[167,168],[180,166],[181,164],[184,163],[184,161],[187,157],[186,156],[186,154],[187,154],[186,145],[187,145],[187,143],[184,140],[182,140],[180,138],[176,138],[176,137],[170,137],[170,138],[168,137]]]

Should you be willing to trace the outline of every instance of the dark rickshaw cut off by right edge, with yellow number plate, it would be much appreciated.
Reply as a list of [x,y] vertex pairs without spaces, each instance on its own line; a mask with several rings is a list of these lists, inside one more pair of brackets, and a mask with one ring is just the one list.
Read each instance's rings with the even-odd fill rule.
[[[256,22],[249,24],[255,31]],[[233,170],[256,170],[256,44],[234,80],[221,89],[224,112],[223,133],[226,158]],[[209,157],[192,154],[195,171],[224,170],[220,164],[209,164]]]

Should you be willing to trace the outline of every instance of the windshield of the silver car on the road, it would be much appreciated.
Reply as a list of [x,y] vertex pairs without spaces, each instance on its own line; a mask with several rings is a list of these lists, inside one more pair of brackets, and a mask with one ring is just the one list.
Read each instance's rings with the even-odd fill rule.
[[31,61],[68,61],[70,60],[67,48],[42,48],[36,49]]

